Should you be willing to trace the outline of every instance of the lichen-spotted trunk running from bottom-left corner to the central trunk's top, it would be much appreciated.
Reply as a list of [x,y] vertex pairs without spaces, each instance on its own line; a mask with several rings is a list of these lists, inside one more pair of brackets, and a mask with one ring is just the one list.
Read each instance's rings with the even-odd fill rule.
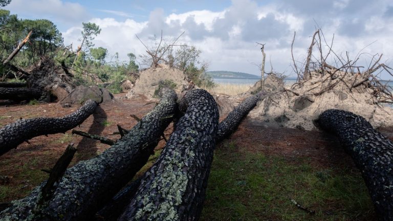
[[[65,171],[53,197],[42,206],[40,216],[31,209],[40,187],[14,201],[0,213],[0,220],[89,220],[119,192],[147,162],[157,140],[177,108],[176,93],[167,90],[160,103],[123,138],[99,156],[77,163]],[[45,182],[44,182],[45,183]],[[42,185],[41,185],[42,186]]]

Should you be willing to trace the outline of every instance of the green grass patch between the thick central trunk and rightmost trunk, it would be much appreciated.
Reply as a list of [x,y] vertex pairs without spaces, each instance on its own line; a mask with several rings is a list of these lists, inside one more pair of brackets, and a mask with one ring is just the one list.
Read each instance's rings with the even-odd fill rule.
[[[315,210],[309,214],[300,205]],[[360,173],[320,168],[307,158],[215,150],[201,220],[374,220]]]

